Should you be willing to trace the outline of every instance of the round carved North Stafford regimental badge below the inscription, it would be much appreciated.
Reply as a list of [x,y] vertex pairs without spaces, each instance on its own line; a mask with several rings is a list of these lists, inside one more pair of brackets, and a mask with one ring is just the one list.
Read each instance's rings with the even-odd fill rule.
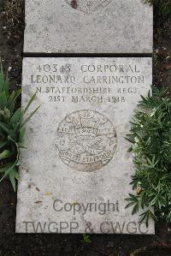
[[103,168],[113,158],[117,134],[112,122],[93,110],[66,116],[56,131],[56,147],[64,164],[74,170]]

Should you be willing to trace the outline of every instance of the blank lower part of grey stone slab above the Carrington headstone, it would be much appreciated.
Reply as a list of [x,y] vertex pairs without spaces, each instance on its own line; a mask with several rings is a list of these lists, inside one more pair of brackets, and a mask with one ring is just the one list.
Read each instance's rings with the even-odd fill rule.
[[27,0],[24,51],[151,53],[152,16],[142,0]]

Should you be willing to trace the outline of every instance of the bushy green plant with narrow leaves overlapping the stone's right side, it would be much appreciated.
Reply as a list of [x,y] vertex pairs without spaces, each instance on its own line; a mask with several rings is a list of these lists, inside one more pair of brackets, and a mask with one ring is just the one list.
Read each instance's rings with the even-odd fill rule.
[[[152,87],[152,92],[139,102],[133,118],[131,134],[133,162],[136,173],[128,206],[133,214],[143,209],[140,222],[163,218],[171,222],[171,99]],[[154,207],[154,212],[151,211]]]

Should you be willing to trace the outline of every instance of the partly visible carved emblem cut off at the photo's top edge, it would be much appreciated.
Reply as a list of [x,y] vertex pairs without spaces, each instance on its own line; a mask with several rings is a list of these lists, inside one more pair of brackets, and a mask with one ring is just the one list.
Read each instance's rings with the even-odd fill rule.
[[93,11],[104,8],[113,0],[65,0],[73,9],[78,9],[89,15]]

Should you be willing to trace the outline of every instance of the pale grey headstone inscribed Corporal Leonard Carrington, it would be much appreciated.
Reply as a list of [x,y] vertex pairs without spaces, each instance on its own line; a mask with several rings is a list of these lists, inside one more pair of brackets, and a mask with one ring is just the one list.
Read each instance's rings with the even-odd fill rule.
[[22,104],[37,91],[32,109],[41,107],[27,124],[16,232],[154,233],[124,200],[134,172],[124,137],[151,66],[140,57],[24,59]]

